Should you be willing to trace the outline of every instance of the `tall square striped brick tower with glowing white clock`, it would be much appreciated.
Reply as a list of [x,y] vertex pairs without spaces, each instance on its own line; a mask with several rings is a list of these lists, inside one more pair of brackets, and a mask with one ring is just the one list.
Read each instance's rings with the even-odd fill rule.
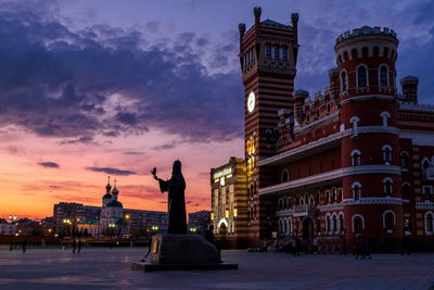
[[294,106],[294,77],[297,62],[298,14],[291,15],[291,25],[271,20],[260,21],[261,9],[253,10],[255,24],[246,30],[239,25],[240,65],[244,84],[244,140],[248,191],[248,228],[252,245],[269,238],[272,230],[272,203],[259,197],[258,189],[270,185],[275,176],[258,167],[259,160],[270,156],[266,131],[279,121],[278,110]]

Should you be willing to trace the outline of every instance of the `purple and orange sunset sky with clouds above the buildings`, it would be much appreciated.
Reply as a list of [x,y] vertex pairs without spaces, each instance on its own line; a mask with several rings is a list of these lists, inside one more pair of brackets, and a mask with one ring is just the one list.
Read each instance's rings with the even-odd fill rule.
[[209,207],[209,169],[243,156],[238,24],[299,13],[295,87],[328,85],[345,30],[393,28],[398,79],[434,103],[434,1],[0,0],[0,217],[100,205],[106,176],[127,209],[165,210],[150,176],[179,159],[188,210]]

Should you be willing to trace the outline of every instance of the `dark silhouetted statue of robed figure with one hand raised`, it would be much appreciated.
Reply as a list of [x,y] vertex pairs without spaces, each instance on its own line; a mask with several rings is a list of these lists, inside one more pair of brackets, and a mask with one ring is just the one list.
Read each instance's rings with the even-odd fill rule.
[[187,215],[186,215],[186,180],[181,173],[181,162],[174,162],[171,177],[169,180],[163,180],[156,176],[156,168],[151,171],[153,177],[159,182],[159,190],[167,191],[167,210],[169,212],[168,234],[187,234]]

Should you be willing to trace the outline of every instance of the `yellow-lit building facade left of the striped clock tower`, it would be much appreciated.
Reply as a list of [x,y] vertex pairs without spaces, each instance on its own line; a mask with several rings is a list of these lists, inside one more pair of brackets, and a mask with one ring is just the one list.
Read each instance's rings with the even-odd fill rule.
[[210,169],[214,234],[222,248],[245,248],[247,230],[247,182],[243,159],[230,157]]

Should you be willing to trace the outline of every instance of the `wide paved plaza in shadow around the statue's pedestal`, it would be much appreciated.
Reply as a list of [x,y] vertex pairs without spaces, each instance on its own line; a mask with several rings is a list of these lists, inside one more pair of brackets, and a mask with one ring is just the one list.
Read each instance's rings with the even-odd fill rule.
[[434,289],[434,254],[302,255],[224,251],[238,270],[131,270],[145,249],[0,249],[0,289]]

